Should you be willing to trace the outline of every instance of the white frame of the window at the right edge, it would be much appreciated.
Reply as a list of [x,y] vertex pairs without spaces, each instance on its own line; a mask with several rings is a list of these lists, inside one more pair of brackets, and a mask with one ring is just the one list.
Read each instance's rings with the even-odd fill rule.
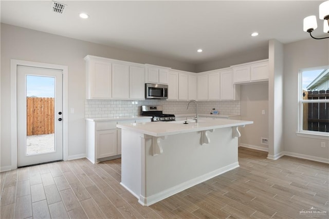
[[328,103],[329,100],[304,100],[303,97],[303,72],[317,69],[328,69],[329,66],[320,66],[314,68],[303,68],[298,72],[298,125],[297,125],[297,136],[318,138],[328,140],[328,132],[309,131],[303,130],[303,103]]

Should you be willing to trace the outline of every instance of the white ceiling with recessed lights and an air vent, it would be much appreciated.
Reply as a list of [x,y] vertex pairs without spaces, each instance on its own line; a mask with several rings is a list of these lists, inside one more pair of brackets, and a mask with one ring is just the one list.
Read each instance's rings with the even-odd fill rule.
[[[303,19],[318,17],[323,1],[58,2],[67,5],[63,14],[51,11],[51,1],[1,1],[1,22],[199,64],[266,48],[270,39],[308,39]],[[315,36],[324,35],[319,22]]]

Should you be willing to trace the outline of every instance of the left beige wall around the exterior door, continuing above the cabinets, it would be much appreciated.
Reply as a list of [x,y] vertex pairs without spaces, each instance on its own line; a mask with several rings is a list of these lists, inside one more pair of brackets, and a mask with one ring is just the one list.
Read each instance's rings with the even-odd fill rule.
[[1,167],[11,166],[10,59],[68,66],[68,156],[85,153],[85,62],[87,55],[194,71],[189,63],[120,50],[59,35],[1,24]]

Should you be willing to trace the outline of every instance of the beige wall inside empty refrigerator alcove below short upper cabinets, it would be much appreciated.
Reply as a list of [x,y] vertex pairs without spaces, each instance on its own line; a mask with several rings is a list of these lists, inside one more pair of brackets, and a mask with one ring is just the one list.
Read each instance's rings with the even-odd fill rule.
[[253,121],[240,128],[240,145],[267,151],[268,145],[261,144],[261,138],[268,138],[268,83],[241,85],[240,108],[241,120]]

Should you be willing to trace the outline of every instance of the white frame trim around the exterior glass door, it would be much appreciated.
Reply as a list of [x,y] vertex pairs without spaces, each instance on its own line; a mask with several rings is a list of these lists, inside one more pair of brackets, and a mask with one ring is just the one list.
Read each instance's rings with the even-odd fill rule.
[[68,157],[68,66],[24,60],[10,60],[11,170],[17,169],[17,65],[63,71],[63,160]]

